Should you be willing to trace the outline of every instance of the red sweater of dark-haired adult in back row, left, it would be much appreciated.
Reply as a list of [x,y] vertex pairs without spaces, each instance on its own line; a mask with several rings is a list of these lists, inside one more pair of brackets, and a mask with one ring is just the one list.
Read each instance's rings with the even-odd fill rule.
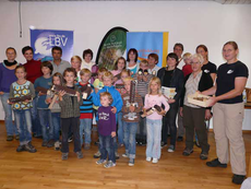
[[36,79],[38,79],[43,75],[40,64],[41,64],[40,61],[34,60],[34,59],[27,61],[24,64],[26,71],[27,71],[26,80],[34,83]]

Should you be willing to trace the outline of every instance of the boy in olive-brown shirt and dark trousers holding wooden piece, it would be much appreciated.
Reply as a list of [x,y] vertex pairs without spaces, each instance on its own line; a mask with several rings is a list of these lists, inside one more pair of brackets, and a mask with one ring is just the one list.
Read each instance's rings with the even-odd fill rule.
[[69,144],[68,133],[69,128],[73,132],[74,152],[77,158],[83,158],[80,142],[80,105],[82,105],[82,95],[80,88],[74,85],[76,71],[73,68],[68,68],[63,72],[65,86],[76,91],[76,96],[70,96],[64,91],[59,92],[59,105],[61,107],[61,127],[62,127],[62,160],[68,160]]

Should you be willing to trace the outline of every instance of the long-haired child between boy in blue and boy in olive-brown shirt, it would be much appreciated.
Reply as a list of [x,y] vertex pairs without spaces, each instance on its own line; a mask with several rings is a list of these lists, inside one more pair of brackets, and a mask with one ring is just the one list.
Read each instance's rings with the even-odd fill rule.
[[[63,78],[61,73],[57,72],[52,75],[52,82],[56,85],[62,85],[63,84]],[[59,131],[60,131],[60,113],[61,108],[59,106],[59,97],[55,93],[47,94],[46,97],[46,104],[51,104],[53,102],[53,105],[49,108],[51,111],[51,121],[53,126],[53,141],[55,141],[55,150],[59,151],[60,149],[60,142],[59,142]]]

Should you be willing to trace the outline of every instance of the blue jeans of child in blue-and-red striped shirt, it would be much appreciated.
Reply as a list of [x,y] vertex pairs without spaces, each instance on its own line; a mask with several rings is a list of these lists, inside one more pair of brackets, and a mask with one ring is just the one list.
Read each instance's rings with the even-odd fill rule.
[[91,143],[91,134],[92,134],[92,122],[93,119],[81,119],[80,120],[80,140],[81,145],[83,144],[83,132],[84,132],[84,143]]

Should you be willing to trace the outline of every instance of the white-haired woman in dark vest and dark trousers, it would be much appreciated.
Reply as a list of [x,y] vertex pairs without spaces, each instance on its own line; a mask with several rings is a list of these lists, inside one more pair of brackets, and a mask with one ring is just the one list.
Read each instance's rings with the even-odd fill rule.
[[203,57],[195,54],[191,57],[193,72],[184,79],[184,90],[180,106],[180,115],[183,117],[183,126],[186,128],[186,149],[184,156],[189,156],[193,152],[194,129],[201,144],[201,160],[207,160],[210,144],[207,142],[207,129],[205,119],[211,117],[211,108],[203,108],[188,103],[188,95],[194,94],[196,91],[205,91],[213,86],[213,80],[210,74],[202,71]]

